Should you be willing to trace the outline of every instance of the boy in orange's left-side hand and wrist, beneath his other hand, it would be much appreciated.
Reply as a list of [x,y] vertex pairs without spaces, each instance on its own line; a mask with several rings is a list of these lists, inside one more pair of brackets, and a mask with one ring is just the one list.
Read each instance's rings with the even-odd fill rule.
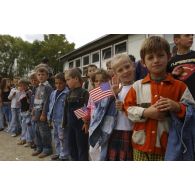
[[146,108],[143,113],[144,118],[151,118],[155,120],[164,120],[166,115],[166,112],[161,112],[156,108],[156,104]]

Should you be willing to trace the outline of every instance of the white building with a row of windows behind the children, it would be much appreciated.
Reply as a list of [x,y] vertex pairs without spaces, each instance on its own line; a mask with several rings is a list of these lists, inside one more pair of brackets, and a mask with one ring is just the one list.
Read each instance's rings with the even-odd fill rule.
[[[153,35],[154,34],[105,35],[60,57],[60,61],[64,64],[64,70],[78,67],[81,68],[83,76],[85,76],[89,64],[95,64],[98,68],[105,69],[106,62],[119,53],[131,54],[135,56],[136,60],[139,60],[139,51],[143,40]],[[173,48],[173,34],[161,34],[159,36],[167,39],[171,49]],[[193,49],[195,49],[195,44],[193,45]]]

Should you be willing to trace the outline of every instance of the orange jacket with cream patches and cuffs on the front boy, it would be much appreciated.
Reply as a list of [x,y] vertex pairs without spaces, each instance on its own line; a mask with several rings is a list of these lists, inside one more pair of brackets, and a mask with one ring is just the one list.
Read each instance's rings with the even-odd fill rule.
[[165,153],[170,115],[167,114],[163,121],[142,118],[144,109],[157,102],[160,96],[180,102],[181,111],[177,113],[180,118],[185,116],[186,111],[186,106],[181,101],[192,98],[187,86],[171,75],[167,75],[161,82],[151,80],[149,74],[136,81],[127,93],[124,109],[128,118],[134,122],[132,144],[137,150],[154,154]]

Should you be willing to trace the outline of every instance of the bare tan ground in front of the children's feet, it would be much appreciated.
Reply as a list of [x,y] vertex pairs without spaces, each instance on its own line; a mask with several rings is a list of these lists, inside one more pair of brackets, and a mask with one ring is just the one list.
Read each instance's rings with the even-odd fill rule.
[[0,160],[1,161],[47,161],[50,157],[40,159],[31,156],[34,151],[31,148],[17,145],[19,137],[11,137],[10,134],[0,131]]

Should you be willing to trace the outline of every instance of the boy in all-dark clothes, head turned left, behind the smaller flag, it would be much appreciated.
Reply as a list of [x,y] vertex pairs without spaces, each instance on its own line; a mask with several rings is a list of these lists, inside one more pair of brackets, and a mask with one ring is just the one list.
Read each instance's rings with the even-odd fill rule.
[[87,105],[89,93],[82,88],[81,74],[77,69],[65,73],[70,89],[64,107],[63,128],[69,128],[69,149],[72,160],[88,160],[88,134],[82,130],[83,121],[77,119],[74,111]]

